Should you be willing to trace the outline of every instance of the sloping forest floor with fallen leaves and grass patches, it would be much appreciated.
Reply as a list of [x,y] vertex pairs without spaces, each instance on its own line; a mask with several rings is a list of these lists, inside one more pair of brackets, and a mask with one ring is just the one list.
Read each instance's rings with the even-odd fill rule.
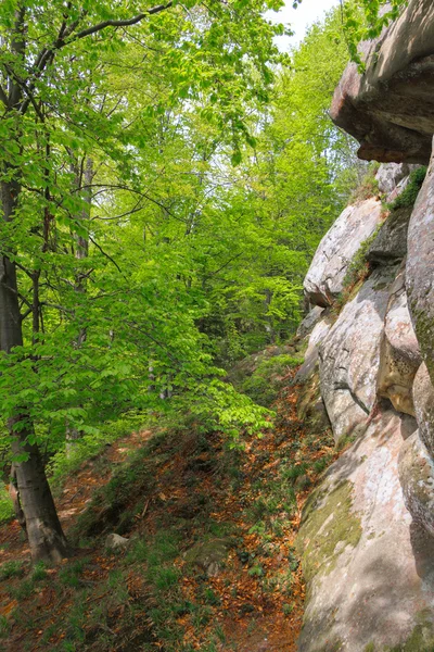
[[[58,489],[77,547],[29,563],[0,527],[0,648],[8,652],[294,652],[305,587],[302,506],[335,457],[296,417],[291,378],[273,427],[229,449],[197,424],[119,439]],[[126,548],[106,549],[117,532]]]

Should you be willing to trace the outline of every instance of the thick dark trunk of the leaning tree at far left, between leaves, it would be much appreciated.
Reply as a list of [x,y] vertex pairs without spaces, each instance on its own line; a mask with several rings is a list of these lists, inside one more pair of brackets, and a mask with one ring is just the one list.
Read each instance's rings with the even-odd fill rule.
[[[5,222],[13,218],[20,190],[14,183],[1,185],[1,205]],[[23,346],[18,297],[15,264],[4,252],[0,252],[0,348],[8,354],[15,347]],[[14,463],[18,494],[15,502],[22,510],[17,518],[23,521],[24,515],[31,559],[59,562],[68,552],[66,538],[62,532],[38,447],[27,441],[34,435],[33,425],[24,408],[21,412],[8,423],[14,456],[23,453],[27,455],[25,462]]]

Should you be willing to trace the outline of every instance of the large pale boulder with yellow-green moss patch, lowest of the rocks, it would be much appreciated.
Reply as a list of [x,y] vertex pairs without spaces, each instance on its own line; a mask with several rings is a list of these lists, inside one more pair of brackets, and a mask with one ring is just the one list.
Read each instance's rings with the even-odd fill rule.
[[412,523],[398,477],[416,422],[380,410],[303,513],[307,579],[298,652],[432,652],[434,539]]

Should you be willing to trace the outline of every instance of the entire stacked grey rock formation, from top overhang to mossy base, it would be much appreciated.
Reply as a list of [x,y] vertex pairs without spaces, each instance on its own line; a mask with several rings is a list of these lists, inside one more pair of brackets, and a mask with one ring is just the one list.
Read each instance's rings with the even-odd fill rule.
[[[432,1],[410,0],[363,52],[332,117],[360,158],[386,163],[376,180],[393,202],[416,196],[412,164],[432,150]],[[299,652],[434,650],[434,155],[416,203],[398,204],[386,218],[378,197],[346,209],[305,280],[316,326],[296,381],[345,452],[303,513]],[[369,272],[344,288],[360,251]]]

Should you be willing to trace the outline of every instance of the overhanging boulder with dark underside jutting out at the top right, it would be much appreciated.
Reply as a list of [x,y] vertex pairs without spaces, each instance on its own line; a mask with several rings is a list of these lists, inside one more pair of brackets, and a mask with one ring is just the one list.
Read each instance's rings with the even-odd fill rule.
[[360,142],[360,159],[425,164],[434,133],[432,0],[410,0],[400,18],[361,50],[366,72],[348,65],[333,121]]

